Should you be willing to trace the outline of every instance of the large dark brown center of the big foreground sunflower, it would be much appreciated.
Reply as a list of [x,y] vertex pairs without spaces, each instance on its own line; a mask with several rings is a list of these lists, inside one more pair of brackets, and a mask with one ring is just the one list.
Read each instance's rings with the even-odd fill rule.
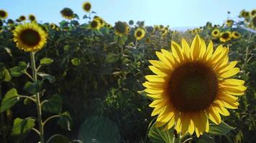
[[198,62],[187,63],[173,71],[169,82],[170,102],[181,112],[206,109],[218,92],[213,69]]

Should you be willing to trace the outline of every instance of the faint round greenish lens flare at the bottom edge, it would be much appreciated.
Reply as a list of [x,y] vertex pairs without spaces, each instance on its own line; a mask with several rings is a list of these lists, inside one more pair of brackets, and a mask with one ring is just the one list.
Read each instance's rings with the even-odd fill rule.
[[81,125],[79,139],[83,142],[121,142],[118,127],[106,117],[89,117],[86,119]]

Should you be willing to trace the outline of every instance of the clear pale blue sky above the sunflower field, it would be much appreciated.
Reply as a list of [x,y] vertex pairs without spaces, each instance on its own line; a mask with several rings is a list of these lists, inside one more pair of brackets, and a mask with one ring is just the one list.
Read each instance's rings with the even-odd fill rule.
[[[0,9],[9,18],[34,14],[37,21],[58,24],[63,20],[60,10],[68,7],[83,17],[86,0],[0,0]],[[222,24],[229,16],[237,19],[239,11],[256,9],[256,0],[89,0],[92,10],[110,24],[116,21],[145,21],[146,25],[170,27],[204,26],[207,21]],[[230,11],[231,14],[227,14]],[[86,22],[84,19],[81,23]]]

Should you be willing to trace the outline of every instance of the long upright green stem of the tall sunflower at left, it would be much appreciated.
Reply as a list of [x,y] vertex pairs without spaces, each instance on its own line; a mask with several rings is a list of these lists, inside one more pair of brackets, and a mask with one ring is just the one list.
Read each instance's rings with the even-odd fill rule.
[[[30,59],[31,59],[31,68],[32,68],[32,77],[34,82],[37,82],[37,69],[35,67],[35,52],[30,52]],[[40,132],[40,143],[45,143],[44,139],[44,129],[42,126],[42,109],[40,106],[40,94],[37,92],[36,94],[36,104],[37,104],[37,118],[38,118],[38,125],[39,125],[39,132]]]

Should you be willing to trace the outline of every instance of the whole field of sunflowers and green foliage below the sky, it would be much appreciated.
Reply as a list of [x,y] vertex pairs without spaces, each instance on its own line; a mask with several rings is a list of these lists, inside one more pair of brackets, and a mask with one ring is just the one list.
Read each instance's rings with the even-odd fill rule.
[[82,7],[0,9],[1,143],[256,142],[256,9],[175,31]]

